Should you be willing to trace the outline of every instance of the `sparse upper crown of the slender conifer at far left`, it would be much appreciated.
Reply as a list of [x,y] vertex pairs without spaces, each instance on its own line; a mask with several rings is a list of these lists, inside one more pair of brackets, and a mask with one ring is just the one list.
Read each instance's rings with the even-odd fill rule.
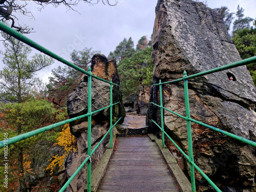
[[53,59],[40,54],[28,59],[31,49],[13,37],[8,37],[4,46],[5,67],[0,71],[0,96],[7,101],[23,102],[30,96],[32,86],[39,82],[35,72],[50,66]]

